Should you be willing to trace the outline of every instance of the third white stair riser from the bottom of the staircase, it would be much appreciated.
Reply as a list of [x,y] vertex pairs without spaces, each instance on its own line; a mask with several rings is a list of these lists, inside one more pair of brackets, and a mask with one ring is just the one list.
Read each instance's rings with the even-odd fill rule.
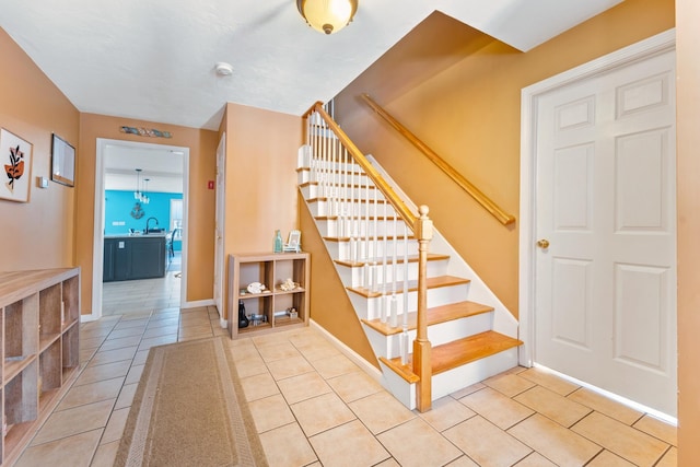
[[[463,302],[467,300],[469,293],[468,284],[441,287],[438,289],[428,289],[428,307],[447,305],[450,303]],[[349,291],[348,295],[354,306],[358,316],[362,319],[375,319],[382,317],[382,311],[386,313],[387,319],[392,311],[392,296],[376,296],[368,299]],[[418,308],[418,292],[408,293],[408,311],[412,312]],[[396,311],[399,315],[398,322],[401,322],[400,314],[404,312],[404,294],[396,294]]]

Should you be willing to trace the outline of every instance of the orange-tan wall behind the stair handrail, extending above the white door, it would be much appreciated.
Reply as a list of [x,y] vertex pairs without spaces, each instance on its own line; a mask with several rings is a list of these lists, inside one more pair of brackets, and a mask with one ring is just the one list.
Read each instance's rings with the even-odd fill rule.
[[[436,21],[439,27],[455,27],[454,20],[438,16],[430,21]],[[501,225],[357,96],[368,92],[455,170],[517,217],[521,90],[672,28],[674,23],[673,0],[627,0],[525,54],[483,34],[472,34],[470,46],[457,47],[450,44],[451,35],[423,35],[423,26],[418,26],[415,32],[423,43],[441,50],[439,59],[430,61],[421,50],[405,48],[387,52],[337,97],[336,116],[358,147],[376,156],[417,205],[430,207],[435,227],[517,316],[517,223]],[[463,32],[458,38],[463,40],[463,36],[469,33]],[[398,63],[397,70],[383,66],[384,60]],[[445,69],[450,62],[454,65]],[[409,90],[402,83],[418,80],[407,75],[410,69],[404,63],[423,66],[422,81]],[[435,72],[431,75],[425,67],[433,67]],[[417,179],[421,183],[413,183]]]

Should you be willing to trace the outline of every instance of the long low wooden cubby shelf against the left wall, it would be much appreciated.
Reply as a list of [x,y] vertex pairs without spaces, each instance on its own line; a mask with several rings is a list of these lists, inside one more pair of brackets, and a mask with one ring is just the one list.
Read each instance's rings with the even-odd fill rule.
[[0,465],[78,376],[80,268],[0,272]]

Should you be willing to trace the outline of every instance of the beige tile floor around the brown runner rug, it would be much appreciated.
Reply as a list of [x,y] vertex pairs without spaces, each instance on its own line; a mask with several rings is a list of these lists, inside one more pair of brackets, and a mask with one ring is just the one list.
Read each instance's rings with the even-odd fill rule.
[[[81,325],[83,370],[18,466],[110,466],[152,346],[224,334],[214,308]],[[313,328],[230,341],[271,466],[674,466],[676,430],[537,369],[418,413]]]

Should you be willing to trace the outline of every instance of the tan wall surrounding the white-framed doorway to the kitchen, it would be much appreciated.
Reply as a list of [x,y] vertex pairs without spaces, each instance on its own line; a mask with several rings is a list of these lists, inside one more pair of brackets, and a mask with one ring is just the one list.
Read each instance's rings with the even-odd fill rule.
[[[158,128],[173,138],[143,138],[119,131],[122,125]],[[164,125],[95,114],[80,116],[78,200],[75,227],[77,261],[82,267],[82,313],[91,313],[93,232],[95,211],[95,161],[97,138],[189,148],[189,200],[187,222],[187,301],[213,296],[214,190],[207,187],[215,175],[219,142],[215,131]]]

